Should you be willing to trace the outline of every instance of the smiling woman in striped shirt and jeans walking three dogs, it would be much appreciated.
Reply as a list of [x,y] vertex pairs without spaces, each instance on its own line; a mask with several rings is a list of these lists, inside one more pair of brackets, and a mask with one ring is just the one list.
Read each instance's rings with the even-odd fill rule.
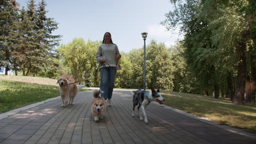
[[97,62],[100,63],[101,97],[108,99],[107,105],[111,106],[111,98],[114,88],[115,73],[117,72],[118,61],[121,58],[117,45],[113,44],[111,34],[106,32],[102,44],[96,53]]

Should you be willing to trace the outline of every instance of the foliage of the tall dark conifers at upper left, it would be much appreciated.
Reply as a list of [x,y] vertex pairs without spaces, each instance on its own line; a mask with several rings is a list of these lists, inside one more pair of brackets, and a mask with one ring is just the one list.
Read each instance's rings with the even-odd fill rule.
[[0,67],[5,67],[5,74],[14,70],[18,75],[18,71],[22,70],[23,75],[38,76],[59,67],[53,58],[57,58],[55,46],[59,45],[61,35],[53,34],[57,23],[46,17],[45,7],[44,0],[38,5],[29,0],[27,9],[18,9],[15,0],[1,1],[0,14],[4,21],[1,21],[0,37],[4,40],[1,40]]

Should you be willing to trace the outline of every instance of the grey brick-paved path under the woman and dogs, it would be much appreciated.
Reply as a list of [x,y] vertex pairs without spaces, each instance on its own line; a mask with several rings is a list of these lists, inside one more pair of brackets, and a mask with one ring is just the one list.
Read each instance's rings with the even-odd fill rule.
[[55,99],[3,118],[0,120],[0,144],[256,143],[255,138],[232,133],[154,103],[147,107],[146,124],[131,116],[130,91],[118,89],[113,92],[113,106],[108,107],[104,119],[95,123],[90,113],[91,99],[91,91],[80,92],[72,106],[62,108],[61,99]]

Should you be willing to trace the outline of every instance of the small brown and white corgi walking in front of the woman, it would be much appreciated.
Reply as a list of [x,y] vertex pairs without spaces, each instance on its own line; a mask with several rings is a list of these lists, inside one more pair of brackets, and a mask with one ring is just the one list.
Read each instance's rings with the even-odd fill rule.
[[103,91],[94,90],[94,99],[91,100],[91,114],[95,122],[98,122],[99,118],[103,118],[102,112],[107,109],[105,100],[100,97],[102,93]]

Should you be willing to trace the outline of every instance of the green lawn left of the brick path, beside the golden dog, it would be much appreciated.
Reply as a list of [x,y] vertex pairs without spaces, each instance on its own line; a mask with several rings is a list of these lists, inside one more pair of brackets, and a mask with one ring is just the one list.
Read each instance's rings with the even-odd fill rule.
[[0,79],[0,86],[0,113],[60,95],[58,86],[3,79]]

